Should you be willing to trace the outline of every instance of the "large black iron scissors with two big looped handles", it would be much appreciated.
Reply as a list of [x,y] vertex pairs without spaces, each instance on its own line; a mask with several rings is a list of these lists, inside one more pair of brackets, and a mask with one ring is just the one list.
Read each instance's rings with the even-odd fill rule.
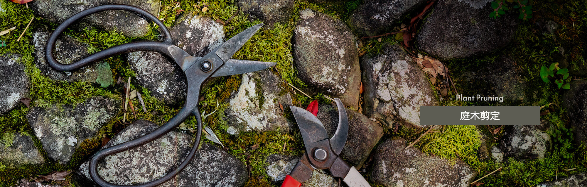
[[[85,16],[91,15],[92,13],[112,10],[123,10],[133,12],[145,19],[153,21],[163,31],[165,40],[135,41],[132,43],[122,44],[120,46],[115,46],[111,47],[110,49],[99,51],[95,54],[92,54],[89,57],[83,58],[82,60],[72,64],[61,64],[55,61],[55,58],[53,57],[55,41],[57,40],[57,37],[63,32],[63,30],[65,30],[70,24],[72,24],[76,20],[82,19]],[[253,34],[255,34],[257,30],[259,30],[259,28],[261,28],[261,26],[262,24],[249,27],[243,32],[238,33],[236,36],[232,37],[230,40],[222,43],[220,46],[212,50],[210,53],[206,54],[204,57],[193,57],[184,50],[182,50],[180,47],[177,47],[173,44],[171,34],[167,30],[167,27],[165,27],[165,25],[163,25],[163,23],[159,19],[151,15],[151,13],[144,11],[143,9],[136,8],[134,6],[96,6],[94,8],[86,9],[85,11],[79,12],[76,15],[73,15],[71,18],[65,20],[65,22],[61,23],[61,25],[59,25],[57,29],[55,29],[55,31],[49,37],[45,53],[45,57],[47,58],[49,65],[53,67],[55,70],[77,70],[79,68],[85,67],[90,63],[94,63],[96,61],[103,60],[105,58],[109,58],[122,53],[130,53],[134,51],[156,51],[168,57],[171,57],[177,63],[177,65],[181,67],[181,70],[184,71],[185,77],[187,78],[187,95],[185,97],[185,104],[183,108],[181,108],[180,112],[178,112],[177,115],[171,118],[171,120],[169,120],[166,124],[148,134],[145,134],[144,136],[98,151],[92,157],[92,160],[90,160],[89,165],[89,173],[93,181],[95,181],[98,185],[103,187],[126,186],[115,185],[102,179],[97,172],[98,162],[108,155],[117,154],[129,150],[133,147],[142,146],[146,143],[156,140],[161,136],[164,136],[171,130],[176,129],[176,127],[179,126],[181,122],[183,122],[188,116],[190,116],[190,114],[193,114],[197,119],[198,130],[195,138],[194,147],[191,149],[190,153],[187,155],[185,160],[181,162],[181,164],[178,165],[176,169],[164,175],[163,177],[151,182],[133,186],[157,186],[161,183],[170,180],[175,175],[179,174],[181,170],[183,170],[190,163],[190,161],[194,157],[195,152],[198,149],[198,146],[200,145],[202,133],[202,117],[200,115],[200,111],[198,110],[198,100],[200,98],[200,88],[202,83],[210,77],[244,74],[247,72],[264,70],[265,68],[271,67],[276,64],[260,61],[231,59],[232,55],[234,55],[234,53],[236,53],[242,47],[242,45],[245,44],[251,38],[251,36],[253,36]]]

